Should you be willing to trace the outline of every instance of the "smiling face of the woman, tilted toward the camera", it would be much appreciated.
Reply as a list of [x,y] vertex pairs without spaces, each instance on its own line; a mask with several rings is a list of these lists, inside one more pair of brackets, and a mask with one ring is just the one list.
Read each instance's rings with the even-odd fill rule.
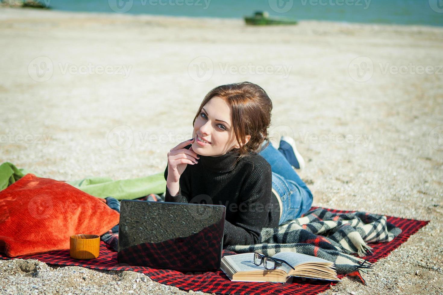
[[[219,96],[211,98],[194,123],[192,150],[202,156],[219,157],[240,148],[232,126],[232,108]],[[201,139],[200,139],[201,138]],[[246,136],[246,142],[251,138]],[[207,143],[201,142],[205,140]]]

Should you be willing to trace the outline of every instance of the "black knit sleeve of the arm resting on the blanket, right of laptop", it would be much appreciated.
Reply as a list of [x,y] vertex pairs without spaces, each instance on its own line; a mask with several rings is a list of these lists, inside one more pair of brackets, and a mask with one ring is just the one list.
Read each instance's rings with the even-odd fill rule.
[[257,244],[268,218],[272,196],[271,165],[256,165],[241,189],[238,214],[234,222],[225,220],[223,247]]

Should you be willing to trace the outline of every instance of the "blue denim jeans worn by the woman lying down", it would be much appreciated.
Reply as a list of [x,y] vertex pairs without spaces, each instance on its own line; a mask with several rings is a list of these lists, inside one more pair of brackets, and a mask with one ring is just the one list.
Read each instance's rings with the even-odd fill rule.
[[282,210],[279,224],[290,219],[299,218],[306,213],[312,204],[312,193],[289,164],[283,153],[269,145],[259,152],[271,165],[272,188],[280,195]]

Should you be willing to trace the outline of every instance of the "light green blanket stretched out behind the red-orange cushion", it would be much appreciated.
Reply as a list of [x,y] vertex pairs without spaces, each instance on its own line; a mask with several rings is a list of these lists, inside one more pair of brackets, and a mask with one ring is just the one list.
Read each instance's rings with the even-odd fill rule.
[[[12,163],[3,163],[0,165],[0,191],[27,173],[35,174],[37,177],[43,177],[31,170],[18,169]],[[113,197],[118,200],[136,199],[149,194],[159,195],[164,193],[166,189],[166,180],[164,179],[163,172],[125,180],[112,180],[109,177],[89,177],[81,180],[68,181],[66,183],[89,195],[99,198]]]

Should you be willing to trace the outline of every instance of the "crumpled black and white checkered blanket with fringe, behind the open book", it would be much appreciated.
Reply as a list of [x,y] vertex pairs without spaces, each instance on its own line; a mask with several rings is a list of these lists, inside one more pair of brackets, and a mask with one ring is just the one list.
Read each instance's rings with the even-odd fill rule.
[[400,233],[401,229],[387,222],[383,215],[333,213],[318,208],[278,228],[264,228],[256,245],[232,245],[225,249],[268,256],[282,251],[303,253],[334,262],[338,273],[350,274],[372,266],[351,254],[370,254],[372,248],[367,243],[392,241]]

